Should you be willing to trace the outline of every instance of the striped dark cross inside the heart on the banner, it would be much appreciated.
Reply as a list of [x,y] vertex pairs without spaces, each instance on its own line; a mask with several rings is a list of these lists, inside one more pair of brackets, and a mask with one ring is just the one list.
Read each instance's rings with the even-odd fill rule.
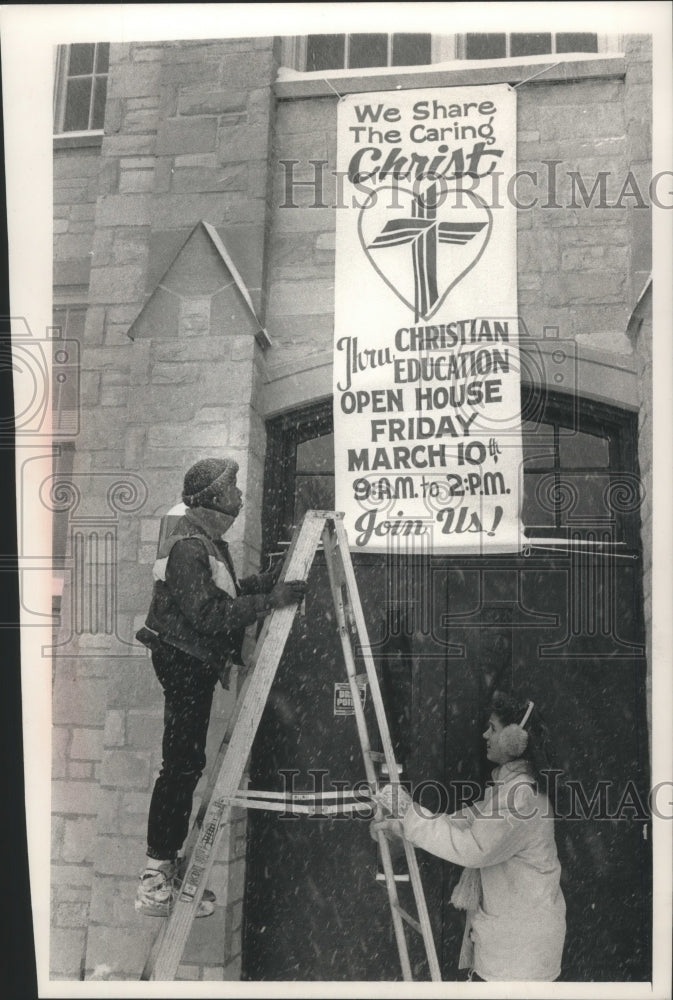
[[386,222],[381,233],[368,247],[370,250],[379,250],[411,243],[416,321],[427,316],[439,298],[437,245],[453,243],[465,246],[486,225],[485,222],[437,222],[437,206],[437,185],[433,184],[424,195],[415,196],[410,219],[392,219]]

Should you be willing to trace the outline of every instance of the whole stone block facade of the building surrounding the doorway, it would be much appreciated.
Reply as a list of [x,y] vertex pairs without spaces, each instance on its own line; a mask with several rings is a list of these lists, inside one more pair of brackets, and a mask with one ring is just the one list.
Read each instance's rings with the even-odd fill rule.
[[[56,323],[81,358],[80,430],[63,446],[79,500],[66,504],[53,650],[56,979],[101,966],[137,979],[157,930],[133,898],[162,699],[133,636],[161,516],[192,461],[233,456],[245,496],[233,554],[241,573],[255,571],[267,422],[331,394],[339,94],[518,86],[519,169],[546,179],[518,213],[520,312],[543,356],[553,328],[577,345],[568,392],[640,415],[649,497],[649,38],[591,58],[456,60],[327,83],[279,73],[286,51],[277,38],[112,44],[101,134],[54,141]],[[556,201],[542,207],[553,163]],[[586,205],[570,174],[593,184],[601,171],[604,203],[598,192]],[[520,192],[528,203],[525,181]],[[649,499],[642,516],[649,631]],[[216,695],[210,759],[233,700]],[[245,857],[235,813],[212,880],[223,905],[196,922],[180,978],[240,978]]]

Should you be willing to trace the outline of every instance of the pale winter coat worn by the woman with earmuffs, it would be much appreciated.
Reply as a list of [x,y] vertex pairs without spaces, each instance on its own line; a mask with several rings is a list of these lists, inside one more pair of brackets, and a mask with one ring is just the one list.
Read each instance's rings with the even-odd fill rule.
[[478,868],[482,901],[467,913],[460,968],[486,980],[556,979],[565,940],[565,900],[554,820],[523,760],[493,772],[474,806],[433,816],[412,805],[404,835],[416,847]]

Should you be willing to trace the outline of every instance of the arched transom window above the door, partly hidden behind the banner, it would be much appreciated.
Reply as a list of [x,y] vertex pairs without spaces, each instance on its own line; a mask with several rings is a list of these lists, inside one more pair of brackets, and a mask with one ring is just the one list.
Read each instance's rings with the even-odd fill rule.
[[[521,519],[527,535],[592,537],[638,545],[636,421],[631,413],[549,392],[524,419]],[[263,546],[277,551],[307,510],[334,509],[331,400],[270,421]],[[603,537],[603,534],[601,534]],[[595,540],[595,539],[594,539]]]

